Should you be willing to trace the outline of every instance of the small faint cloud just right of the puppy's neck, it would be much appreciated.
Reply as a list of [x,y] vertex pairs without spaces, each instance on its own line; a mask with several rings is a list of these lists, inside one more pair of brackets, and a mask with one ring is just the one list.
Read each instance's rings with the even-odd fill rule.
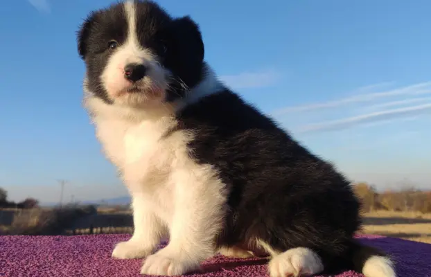
[[279,73],[272,70],[244,72],[237,75],[222,75],[220,80],[232,89],[254,89],[275,84],[279,80]]

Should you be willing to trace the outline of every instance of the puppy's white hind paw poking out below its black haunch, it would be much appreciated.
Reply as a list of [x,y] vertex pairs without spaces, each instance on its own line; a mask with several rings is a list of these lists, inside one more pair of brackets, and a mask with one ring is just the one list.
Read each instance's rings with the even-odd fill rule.
[[272,258],[268,269],[271,277],[298,277],[318,274],[324,267],[314,251],[299,247]]

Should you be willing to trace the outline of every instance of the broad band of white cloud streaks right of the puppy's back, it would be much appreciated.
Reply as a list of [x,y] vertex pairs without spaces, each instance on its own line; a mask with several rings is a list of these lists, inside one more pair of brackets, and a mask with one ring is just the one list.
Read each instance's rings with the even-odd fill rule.
[[[425,114],[431,114],[429,96],[431,82],[381,91],[382,87],[388,85],[389,83],[371,85],[356,89],[353,96],[285,107],[274,111],[273,114],[281,120],[283,116],[289,114],[285,120],[292,120],[293,126],[290,127],[297,133],[303,134],[349,129],[356,126],[385,125],[400,122],[406,118],[419,119]],[[378,88],[380,91],[373,91]]]

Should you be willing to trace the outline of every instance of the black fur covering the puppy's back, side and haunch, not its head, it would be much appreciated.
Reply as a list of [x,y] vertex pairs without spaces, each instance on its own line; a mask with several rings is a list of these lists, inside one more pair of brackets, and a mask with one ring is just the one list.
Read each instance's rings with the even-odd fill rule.
[[367,258],[384,256],[353,240],[360,202],[349,181],[236,93],[207,96],[177,118],[197,134],[193,158],[213,165],[230,190],[220,246],[259,238],[281,252],[308,247],[328,272],[361,272]]

